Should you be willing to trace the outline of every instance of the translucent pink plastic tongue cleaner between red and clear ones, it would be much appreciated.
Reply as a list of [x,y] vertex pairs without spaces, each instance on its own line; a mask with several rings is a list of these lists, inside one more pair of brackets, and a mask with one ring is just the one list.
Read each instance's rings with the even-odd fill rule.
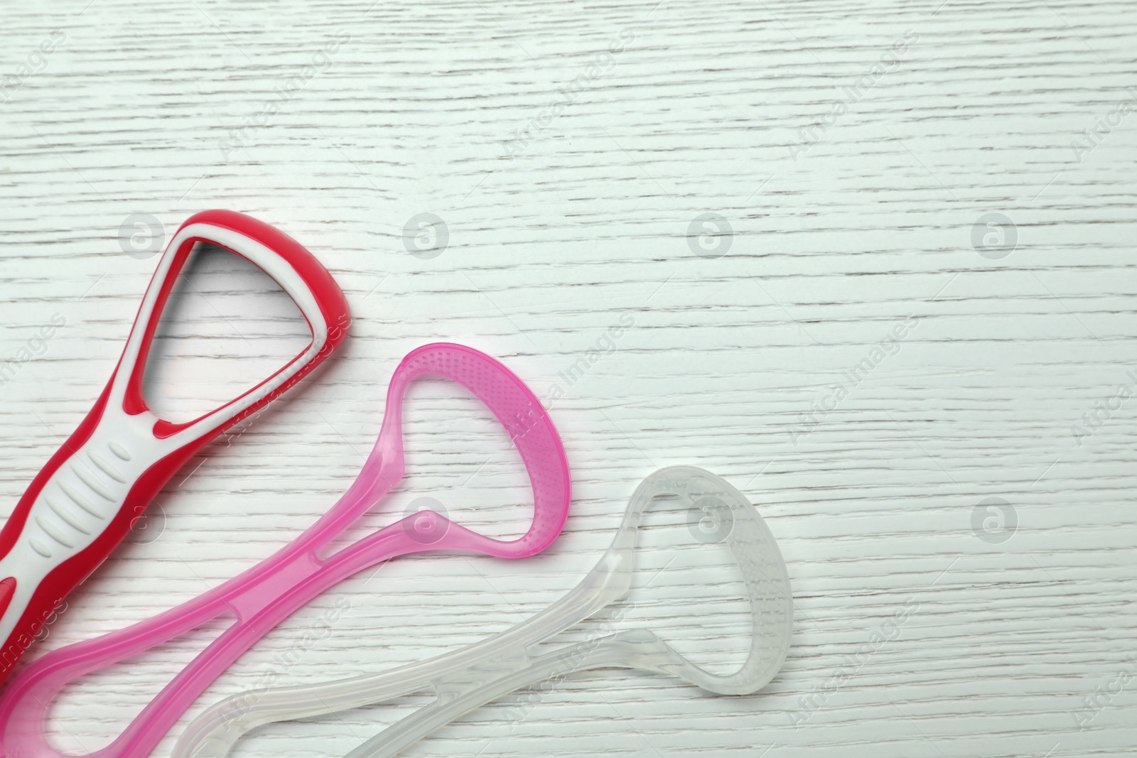
[[[433,511],[420,511],[321,559],[321,547],[402,478],[402,397],[410,381],[423,374],[462,383],[505,425],[531,477],[532,525],[520,539],[500,541],[453,524]],[[64,686],[231,611],[236,616],[232,626],[182,669],[114,742],[86,753],[92,758],[148,756],[222,672],[321,592],[364,568],[425,550],[468,550],[501,558],[533,555],[559,534],[570,499],[568,463],[561,438],[529,388],[500,363],[471,348],[450,343],[418,348],[396,369],[379,440],[364,469],[323,517],[280,551],[216,590],[125,630],[55,650],[28,666],[0,700],[0,756],[68,758],[53,749],[43,734],[48,708]],[[441,535],[422,540],[423,519]]]

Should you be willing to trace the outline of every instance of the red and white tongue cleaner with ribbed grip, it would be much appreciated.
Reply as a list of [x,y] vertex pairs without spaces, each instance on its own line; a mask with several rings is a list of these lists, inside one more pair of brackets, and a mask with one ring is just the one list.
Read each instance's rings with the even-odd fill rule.
[[[142,374],[166,300],[199,242],[264,269],[304,314],[312,342],[236,399],[175,424],[147,407]],[[315,368],[343,340],[349,323],[347,300],[331,275],[283,232],[227,210],[207,210],[182,224],[158,260],[106,389],[0,531],[0,682],[64,597],[110,555],[174,473]]]

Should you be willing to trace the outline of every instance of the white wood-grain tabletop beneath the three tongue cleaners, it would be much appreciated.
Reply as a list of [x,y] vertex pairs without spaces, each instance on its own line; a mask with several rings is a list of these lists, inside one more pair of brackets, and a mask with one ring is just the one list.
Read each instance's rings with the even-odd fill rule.
[[[543,608],[670,464],[727,477],[778,538],[796,605],[781,674],[742,698],[581,675],[408,755],[1131,753],[1131,3],[41,6],[0,11],[0,359],[34,353],[0,388],[0,513],[90,408],[150,248],[190,214],[285,230],[355,324],[327,366],[174,478],[164,518],[28,659],[298,534],[354,478],[391,369],[418,344],[464,342],[541,397],[564,392],[550,405],[575,501],[547,553],[410,558],[345,583],[155,755],[345,598],[282,682],[418,660]],[[420,214],[445,223],[445,249],[441,226],[405,232]],[[208,263],[165,332],[160,408],[224,399],[298,339],[287,300]],[[471,398],[417,385],[407,448],[405,485],[352,536],[422,497],[524,528],[524,470]],[[696,660],[742,650],[723,610],[738,585],[711,548],[711,568],[670,565],[621,624],[650,623]],[[671,555],[661,540],[647,560]],[[68,689],[55,744],[106,744],[221,627]],[[517,718],[522,698],[537,702]],[[263,727],[234,755],[341,756],[426,699]]]

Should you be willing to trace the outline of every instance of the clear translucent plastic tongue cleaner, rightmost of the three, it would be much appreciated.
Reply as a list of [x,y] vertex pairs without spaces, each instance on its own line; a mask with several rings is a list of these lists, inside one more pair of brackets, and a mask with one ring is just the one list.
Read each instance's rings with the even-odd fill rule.
[[[555,649],[547,642],[628,594],[636,570],[636,531],[655,498],[680,498],[728,532],[725,542],[741,569],[753,623],[746,663],[733,674],[719,676],[700,668],[647,628]],[[711,692],[748,694],[762,689],[781,668],[792,624],[786,565],[754,506],[709,472],[672,466],[640,483],[612,547],[575,589],[540,614],[482,642],[382,674],[226,698],[186,727],[173,758],[224,758],[242,734],[263,724],[334,714],[433,690],[438,695],[434,702],[347,757],[389,758],[514,690],[591,668],[637,668],[675,676]]]

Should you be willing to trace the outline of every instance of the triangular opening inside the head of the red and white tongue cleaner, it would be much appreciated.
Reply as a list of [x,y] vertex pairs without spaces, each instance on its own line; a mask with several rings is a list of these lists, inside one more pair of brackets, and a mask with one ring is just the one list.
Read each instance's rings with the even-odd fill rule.
[[304,315],[268,274],[199,242],[163,308],[142,394],[159,417],[190,422],[272,376],[310,342]]

